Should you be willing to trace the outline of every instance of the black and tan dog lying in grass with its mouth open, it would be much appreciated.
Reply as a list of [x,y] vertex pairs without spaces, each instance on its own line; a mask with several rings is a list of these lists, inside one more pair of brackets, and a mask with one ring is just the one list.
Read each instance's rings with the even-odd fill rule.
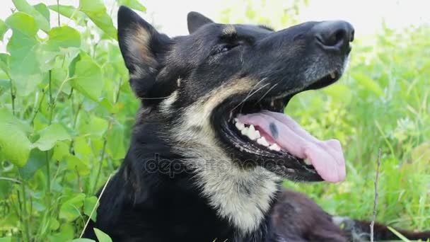
[[[365,221],[333,217],[281,186],[345,178],[339,142],[316,139],[283,110],[297,93],[342,76],[352,25],[274,31],[196,12],[187,24],[190,35],[170,38],[120,7],[120,50],[141,108],[85,236],[95,238],[96,227],[113,241],[367,239]],[[375,238],[397,237],[376,224]]]

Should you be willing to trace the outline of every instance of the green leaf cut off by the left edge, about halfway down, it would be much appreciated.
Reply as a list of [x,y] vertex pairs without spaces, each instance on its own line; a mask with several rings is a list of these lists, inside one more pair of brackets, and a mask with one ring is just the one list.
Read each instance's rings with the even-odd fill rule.
[[10,113],[0,110],[0,160],[24,166],[30,155],[31,143],[21,122]]

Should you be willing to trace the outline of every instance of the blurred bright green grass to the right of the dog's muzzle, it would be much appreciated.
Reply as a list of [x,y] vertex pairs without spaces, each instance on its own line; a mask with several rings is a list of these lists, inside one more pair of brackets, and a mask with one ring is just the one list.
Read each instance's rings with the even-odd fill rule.
[[339,83],[292,100],[286,113],[317,137],[340,139],[347,180],[287,187],[308,193],[328,212],[371,219],[381,149],[377,219],[430,228],[429,38],[429,28],[411,28],[356,41]]

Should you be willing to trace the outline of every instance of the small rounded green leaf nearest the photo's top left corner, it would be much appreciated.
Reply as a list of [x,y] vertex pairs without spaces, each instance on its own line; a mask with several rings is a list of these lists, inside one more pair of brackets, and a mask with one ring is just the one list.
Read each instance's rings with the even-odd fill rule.
[[6,25],[14,31],[19,31],[23,35],[34,37],[37,33],[37,23],[33,16],[27,13],[16,12],[6,18]]

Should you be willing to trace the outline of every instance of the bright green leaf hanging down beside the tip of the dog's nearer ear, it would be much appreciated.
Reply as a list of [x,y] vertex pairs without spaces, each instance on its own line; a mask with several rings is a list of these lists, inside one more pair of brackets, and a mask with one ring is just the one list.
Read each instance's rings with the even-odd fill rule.
[[81,9],[98,28],[110,36],[110,38],[117,39],[117,30],[102,0],[80,0],[79,9]]

